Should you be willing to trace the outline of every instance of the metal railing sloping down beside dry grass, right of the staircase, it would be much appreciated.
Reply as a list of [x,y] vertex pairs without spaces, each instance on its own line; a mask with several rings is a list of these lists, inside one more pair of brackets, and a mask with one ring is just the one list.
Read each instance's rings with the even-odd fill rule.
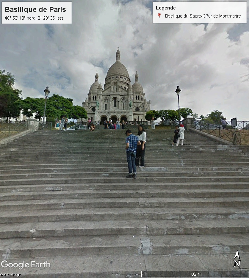
[[223,128],[221,125],[207,124],[197,120],[192,120],[191,126],[199,131],[203,131],[220,139],[232,142],[233,145],[241,145],[240,132],[235,129]]

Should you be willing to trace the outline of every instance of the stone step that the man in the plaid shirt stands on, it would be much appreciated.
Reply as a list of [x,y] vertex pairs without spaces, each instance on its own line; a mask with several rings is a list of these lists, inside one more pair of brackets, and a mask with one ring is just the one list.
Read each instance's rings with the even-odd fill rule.
[[[140,186],[144,183],[176,183],[176,179],[178,183],[196,183],[200,180],[200,177],[184,177],[184,176],[177,176],[177,173],[175,173],[175,176],[171,177],[144,177],[141,173],[138,173],[137,179],[135,180],[137,183],[140,184]],[[132,179],[133,180],[133,179]],[[208,182],[247,182],[249,183],[249,176],[213,176],[213,177],[201,177],[202,182],[208,183]],[[126,183],[129,182],[129,180],[125,177],[123,177],[123,187]],[[9,179],[9,180],[0,180],[0,186],[13,186],[13,185],[32,185],[32,184],[66,184],[66,183],[119,183],[120,177],[107,177],[105,174],[102,175],[102,177],[82,177],[82,178],[34,178],[34,179]]]

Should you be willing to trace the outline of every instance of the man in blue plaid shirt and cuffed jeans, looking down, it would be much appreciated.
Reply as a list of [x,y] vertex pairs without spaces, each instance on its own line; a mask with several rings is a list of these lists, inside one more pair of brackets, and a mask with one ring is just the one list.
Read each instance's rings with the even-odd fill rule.
[[126,158],[128,162],[129,175],[126,178],[136,178],[137,169],[135,164],[137,146],[141,145],[138,137],[131,133],[130,129],[126,130]]

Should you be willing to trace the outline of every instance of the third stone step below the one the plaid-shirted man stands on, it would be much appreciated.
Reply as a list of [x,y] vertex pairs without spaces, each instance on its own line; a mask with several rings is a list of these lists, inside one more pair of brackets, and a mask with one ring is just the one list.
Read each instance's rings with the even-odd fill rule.
[[46,210],[71,208],[205,208],[205,207],[249,206],[248,197],[217,198],[80,198],[53,200],[2,201],[0,211],[10,210]]

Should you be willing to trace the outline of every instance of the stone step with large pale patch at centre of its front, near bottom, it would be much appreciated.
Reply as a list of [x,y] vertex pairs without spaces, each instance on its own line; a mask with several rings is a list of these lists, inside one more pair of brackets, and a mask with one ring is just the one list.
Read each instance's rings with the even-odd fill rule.
[[[248,234],[77,236],[0,240],[0,256],[38,258],[86,255],[234,255],[249,253]],[[9,251],[8,251],[9,250]]]

